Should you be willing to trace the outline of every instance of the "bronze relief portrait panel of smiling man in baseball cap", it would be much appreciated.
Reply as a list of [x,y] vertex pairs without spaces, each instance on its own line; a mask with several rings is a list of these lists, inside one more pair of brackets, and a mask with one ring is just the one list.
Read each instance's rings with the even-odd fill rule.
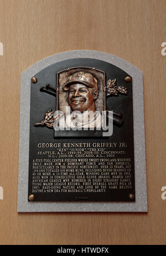
[[[59,119],[65,128],[101,128],[105,110],[105,73],[87,67],[70,68],[57,74]],[[55,127],[56,129],[56,127]]]

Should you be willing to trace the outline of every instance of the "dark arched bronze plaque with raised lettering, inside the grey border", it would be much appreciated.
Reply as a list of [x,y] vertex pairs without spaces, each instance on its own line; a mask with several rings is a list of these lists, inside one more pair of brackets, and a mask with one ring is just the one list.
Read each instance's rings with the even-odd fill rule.
[[133,201],[132,78],[96,59],[55,63],[32,78],[32,201]]

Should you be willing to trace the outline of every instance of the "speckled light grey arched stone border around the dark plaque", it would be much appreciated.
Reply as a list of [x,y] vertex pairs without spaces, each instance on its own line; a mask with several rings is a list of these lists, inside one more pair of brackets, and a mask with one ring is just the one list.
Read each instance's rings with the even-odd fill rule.
[[[91,58],[113,64],[131,75],[133,82],[133,128],[135,202],[29,202],[29,121],[31,78],[56,62],[74,58]],[[46,57],[30,66],[21,75],[18,212],[147,212],[146,151],[144,138],[143,75],[136,66],[115,55],[94,50],[71,50]]]

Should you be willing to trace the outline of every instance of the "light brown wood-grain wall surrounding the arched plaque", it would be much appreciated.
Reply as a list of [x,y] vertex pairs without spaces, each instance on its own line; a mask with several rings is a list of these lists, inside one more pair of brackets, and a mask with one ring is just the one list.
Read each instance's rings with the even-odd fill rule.
[[[166,244],[165,0],[1,0],[0,244]],[[88,49],[143,71],[148,213],[17,213],[20,74]]]

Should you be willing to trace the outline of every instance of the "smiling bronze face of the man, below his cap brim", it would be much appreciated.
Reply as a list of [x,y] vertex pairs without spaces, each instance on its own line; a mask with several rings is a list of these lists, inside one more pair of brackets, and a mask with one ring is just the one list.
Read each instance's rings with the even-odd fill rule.
[[72,84],[69,87],[68,101],[73,111],[86,111],[94,105],[96,91],[84,84]]

